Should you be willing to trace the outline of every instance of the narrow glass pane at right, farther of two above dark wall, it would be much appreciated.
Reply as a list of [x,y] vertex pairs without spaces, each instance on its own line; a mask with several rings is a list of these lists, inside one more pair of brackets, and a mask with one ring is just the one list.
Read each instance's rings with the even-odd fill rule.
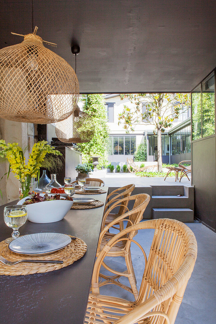
[[192,132],[193,140],[201,138],[201,84],[192,92]]

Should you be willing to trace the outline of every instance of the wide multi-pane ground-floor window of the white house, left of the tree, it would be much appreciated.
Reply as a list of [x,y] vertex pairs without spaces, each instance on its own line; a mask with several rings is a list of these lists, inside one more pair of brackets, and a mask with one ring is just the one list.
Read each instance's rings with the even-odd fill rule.
[[108,155],[134,155],[135,151],[136,136],[109,136]]

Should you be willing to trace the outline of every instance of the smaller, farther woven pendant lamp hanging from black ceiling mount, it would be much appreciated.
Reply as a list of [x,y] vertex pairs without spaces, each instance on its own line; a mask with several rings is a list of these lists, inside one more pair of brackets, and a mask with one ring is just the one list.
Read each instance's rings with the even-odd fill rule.
[[89,114],[80,111],[79,107],[64,121],[55,127],[58,139],[64,143],[87,143],[94,137],[95,127]]

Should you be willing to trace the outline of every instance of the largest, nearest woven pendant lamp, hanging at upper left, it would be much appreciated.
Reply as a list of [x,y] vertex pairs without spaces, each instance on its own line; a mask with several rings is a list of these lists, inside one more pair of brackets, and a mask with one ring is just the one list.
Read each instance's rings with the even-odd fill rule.
[[1,118],[48,124],[66,119],[76,108],[79,84],[74,70],[43,46],[36,31],[0,50]]

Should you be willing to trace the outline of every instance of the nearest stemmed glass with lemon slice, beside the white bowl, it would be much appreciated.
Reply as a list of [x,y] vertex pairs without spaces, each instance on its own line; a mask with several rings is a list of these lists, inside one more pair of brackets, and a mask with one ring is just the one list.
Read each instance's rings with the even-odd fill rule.
[[6,206],[4,209],[4,221],[8,227],[13,228],[12,237],[5,240],[10,243],[19,236],[18,229],[23,226],[27,220],[27,207],[23,205]]

